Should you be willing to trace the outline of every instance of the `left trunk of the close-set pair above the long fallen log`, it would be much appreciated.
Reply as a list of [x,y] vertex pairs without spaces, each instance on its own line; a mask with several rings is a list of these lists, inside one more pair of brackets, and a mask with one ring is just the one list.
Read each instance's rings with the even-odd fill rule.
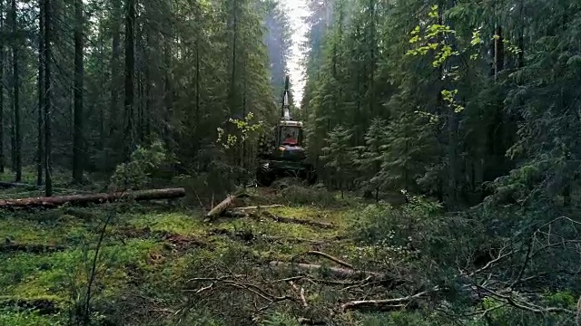
[[44,8],[43,0],[38,2],[38,117],[36,139],[36,185],[43,184],[44,154],[43,154],[43,114],[44,114]]

